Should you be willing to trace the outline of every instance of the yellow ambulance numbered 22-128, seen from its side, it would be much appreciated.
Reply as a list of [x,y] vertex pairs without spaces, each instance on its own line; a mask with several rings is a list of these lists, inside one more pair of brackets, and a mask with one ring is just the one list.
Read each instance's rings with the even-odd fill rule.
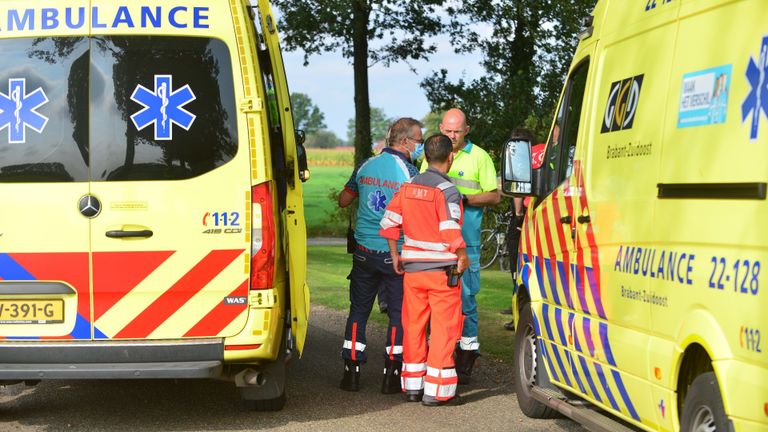
[[535,197],[519,405],[592,430],[767,431],[768,4],[598,0],[579,37],[542,166],[504,147],[504,192]]

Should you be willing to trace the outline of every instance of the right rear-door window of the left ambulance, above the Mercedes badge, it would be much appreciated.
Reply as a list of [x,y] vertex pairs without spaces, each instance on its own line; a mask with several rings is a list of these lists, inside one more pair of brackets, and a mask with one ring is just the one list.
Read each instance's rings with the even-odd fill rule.
[[91,177],[183,180],[237,153],[232,64],[217,39],[91,39]]

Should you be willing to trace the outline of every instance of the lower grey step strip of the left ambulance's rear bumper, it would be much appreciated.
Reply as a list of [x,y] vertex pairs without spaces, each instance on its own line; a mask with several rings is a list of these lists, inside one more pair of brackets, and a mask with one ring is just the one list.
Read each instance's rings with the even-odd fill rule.
[[0,364],[0,380],[216,378],[222,362]]

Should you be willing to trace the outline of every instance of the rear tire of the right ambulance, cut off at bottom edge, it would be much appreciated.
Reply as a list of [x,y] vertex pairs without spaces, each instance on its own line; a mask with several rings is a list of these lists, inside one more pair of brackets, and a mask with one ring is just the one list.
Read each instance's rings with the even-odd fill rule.
[[714,372],[699,375],[688,388],[680,418],[681,432],[727,431],[728,416]]

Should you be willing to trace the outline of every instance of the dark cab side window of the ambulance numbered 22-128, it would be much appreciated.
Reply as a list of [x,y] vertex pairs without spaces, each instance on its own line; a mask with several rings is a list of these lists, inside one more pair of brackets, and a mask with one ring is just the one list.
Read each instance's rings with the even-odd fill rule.
[[563,99],[557,111],[557,119],[552,128],[547,154],[545,155],[544,180],[545,195],[551,193],[573,171],[573,157],[576,153],[576,138],[579,132],[584,91],[587,85],[589,63],[584,61],[568,79]]

